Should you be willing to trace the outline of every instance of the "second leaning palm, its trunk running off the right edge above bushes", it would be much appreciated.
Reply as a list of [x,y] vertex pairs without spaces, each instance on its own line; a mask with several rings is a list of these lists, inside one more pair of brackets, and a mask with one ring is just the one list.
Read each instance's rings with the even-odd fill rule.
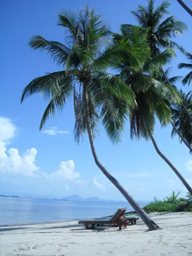
[[[114,44],[118,45],[121,37],[128,38],[129,43],[139,44],[142,36],[145,38],[143,31],[136,27],[129,27],[129,31],[121,28],[122,35],[114,35]],[[136,104],[129,107],[129,120],[131,138],[134,136],[138,139],[141,137],[146,140],[151,140],[157,154],[172,168],[173,172],[179,177],[184,186],[192,194],[192,188],[188,182],[182,177],[177,168],[161,153],[157,147],[157,143],[152,136],[156,117],[161,125],[166,125],[171,121],[171,104],[178,104],[180,96],[177,89],[172,84],[164,83],[154,79],[154,73],[161,74],[161,67],[172,57],[172,51],[166,50],[157,54],[153,58],[148,58],[142,65],[130,65],[130,62],[125,60],[118,67],[120,68],[120,76],[123,81],[130,86],[134,92]],[[159,74],[156,75],[159,77]],[[172,79],[174,80],[174,79]],[[169,102],[169,105],[167,104]]]

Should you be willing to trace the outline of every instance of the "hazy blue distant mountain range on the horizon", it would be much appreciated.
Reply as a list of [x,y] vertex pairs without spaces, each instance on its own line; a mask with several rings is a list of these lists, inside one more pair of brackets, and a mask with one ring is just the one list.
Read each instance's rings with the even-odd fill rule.
[[61,198],[61,200],[65,201],[72,201],[72,202],[108,202],[108,203],[125,203],[125,201],[114,201],[114,200],[103,200],[100,199],[97,196],[93,197],[88,197],[88,198],[82,198],[81,196],[75,194],[75,195],[70,195],[70,196],[65,196]]

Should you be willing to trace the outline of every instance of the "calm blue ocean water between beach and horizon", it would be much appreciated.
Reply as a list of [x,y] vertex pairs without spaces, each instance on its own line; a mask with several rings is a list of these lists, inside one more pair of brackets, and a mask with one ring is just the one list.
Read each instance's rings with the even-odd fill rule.
[[0,225],[97,218],[113,214],[119,207],[127,207],[127,211],[132,211],[131,205],[126,203],[67,202],[0,197]]

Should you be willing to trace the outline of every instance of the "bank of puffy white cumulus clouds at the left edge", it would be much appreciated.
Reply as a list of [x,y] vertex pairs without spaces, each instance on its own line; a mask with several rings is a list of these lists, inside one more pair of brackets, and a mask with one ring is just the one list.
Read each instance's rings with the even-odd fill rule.
[[[56,127],[52,127],[56,129]],[[35,164],[36,148],[26,150],[22,155],[17,148],[9,148],[10,141],[17,131],[17,127],[9,118],[0,117],[0,172],[20,173],[25,176],[44,177],[46,179],[78,180],[80,173],[74,172],[74,161],[63,161],[58,170],[50,173],[41,172]]]

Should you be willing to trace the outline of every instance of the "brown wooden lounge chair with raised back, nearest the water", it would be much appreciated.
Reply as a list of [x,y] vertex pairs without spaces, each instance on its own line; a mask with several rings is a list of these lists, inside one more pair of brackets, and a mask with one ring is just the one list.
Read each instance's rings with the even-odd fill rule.
[[[123,220],[121,217],[123,216],[124,212],[127,208],[120,208],[118,209],[115,214],[111,218],[98,218],[93,220],[80,220],[78,224],[83,224],[84,227],[87,229],[89,225],[95,227],[96,224],[114,224],[118,225],[119,230],[123,227],[127,227],[127,220]],[[125,216],[123,216],[125,219]]]

